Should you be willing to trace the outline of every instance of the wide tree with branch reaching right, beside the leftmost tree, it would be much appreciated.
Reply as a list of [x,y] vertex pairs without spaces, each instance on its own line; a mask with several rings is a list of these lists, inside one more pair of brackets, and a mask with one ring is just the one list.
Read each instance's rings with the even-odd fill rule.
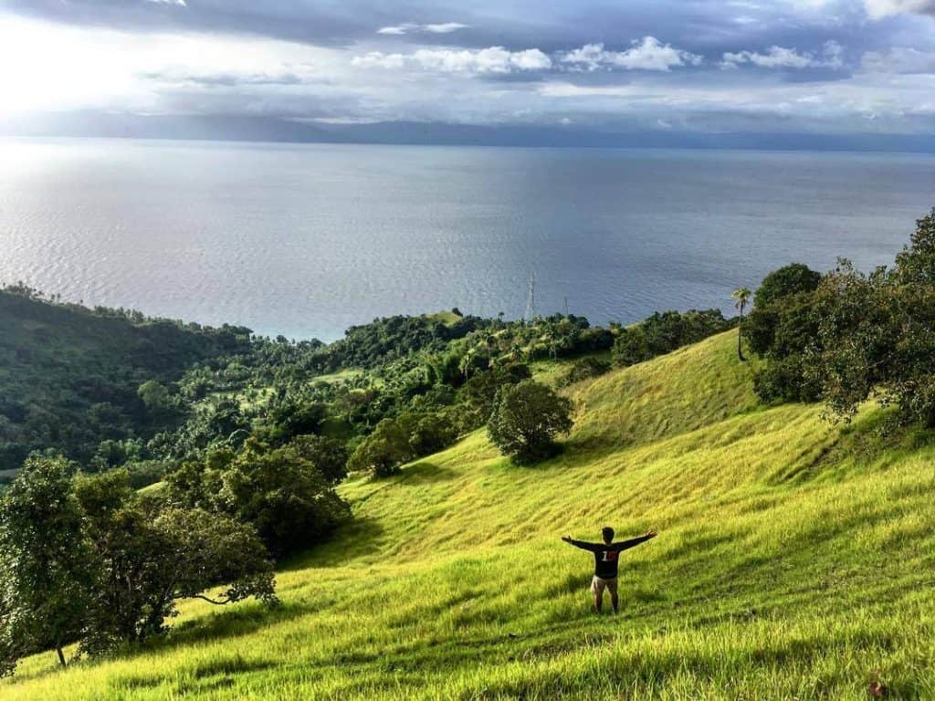
[[[182,598],[275,603],[272,563],[250,524],[200,508],[157,508],[120,470],[78,479],[75,494],[99,566],[83,651],[165,632]],[[222,594],[205,594],[218,586]]]

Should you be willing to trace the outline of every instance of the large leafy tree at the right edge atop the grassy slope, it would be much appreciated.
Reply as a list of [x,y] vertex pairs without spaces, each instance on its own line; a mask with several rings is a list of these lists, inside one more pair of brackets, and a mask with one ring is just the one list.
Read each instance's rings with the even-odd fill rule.
[[841,260],[812,292],[780,296],[750,321],[768,361],[760,396],[813,394],[845,418],[873,396],[935,427],[935,210],[893,267],[865,275]]

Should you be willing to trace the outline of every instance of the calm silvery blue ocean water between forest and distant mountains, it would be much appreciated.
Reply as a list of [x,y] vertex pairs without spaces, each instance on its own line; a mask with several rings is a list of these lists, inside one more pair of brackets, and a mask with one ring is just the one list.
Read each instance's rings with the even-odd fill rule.
[[935,157],[0,140],[0,281],[332,339],[400,312],[731,308],[798,261],[885,264]]

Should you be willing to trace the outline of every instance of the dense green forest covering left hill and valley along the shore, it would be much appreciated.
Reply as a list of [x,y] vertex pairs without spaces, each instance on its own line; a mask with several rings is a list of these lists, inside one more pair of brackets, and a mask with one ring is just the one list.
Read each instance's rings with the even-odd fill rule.
[[[716,311],[656,314],[643,324],[650,341],[640,356],[621,350],[618,360],[636,362],[728,324]],[[142,484],[251,434],[275,445],[329,436],[352,450],[383,419],[411,422],[408,414],[445,414],[467,402],[468,416],[438,427],[456,436],[485,419],[496,386],[528,376],[525,364],[594,353],[609,361],[618,336],[633,333],[575,316],[504,322],[454,309],[354,326],[325,345],[83,308],[7,286],[0,470],[8,475],[33,452],[60,454],[88,472],[124,466]],[[603,362],[587,358],[578,372]]]

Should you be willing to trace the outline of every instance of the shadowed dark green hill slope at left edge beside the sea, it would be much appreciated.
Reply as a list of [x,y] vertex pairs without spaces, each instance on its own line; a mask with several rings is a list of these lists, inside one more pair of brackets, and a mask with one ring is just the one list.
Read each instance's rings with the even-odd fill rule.
[[244,347],[247,329],[208,329],[122,310],[50,304],[0,289],[0,470],[30,451],[87,463],[105,438],[149,437],[137,396],[196,363]]

